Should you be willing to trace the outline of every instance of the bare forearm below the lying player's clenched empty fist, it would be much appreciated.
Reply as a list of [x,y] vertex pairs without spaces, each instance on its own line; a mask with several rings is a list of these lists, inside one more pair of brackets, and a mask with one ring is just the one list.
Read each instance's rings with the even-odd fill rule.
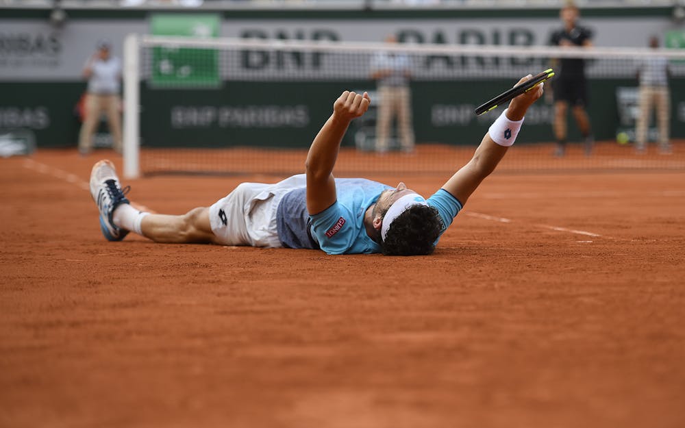
[[324,179],[333,172],[349,123],[350,120],[338,118],[335,113],[328,118],[309,149],[305,164],[307,175]]

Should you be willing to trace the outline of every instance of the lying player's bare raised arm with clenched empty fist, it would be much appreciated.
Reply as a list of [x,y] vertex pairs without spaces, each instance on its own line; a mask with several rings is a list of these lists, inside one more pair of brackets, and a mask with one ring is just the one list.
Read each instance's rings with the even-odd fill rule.
[[353,118],[369,109],[369,94],[346,90],[333,104],[333,114],[316,134],[309,149],[307,171],[307,211],[319,214],[336,201],[336,183],[332,172],[338,159],[340,142]]

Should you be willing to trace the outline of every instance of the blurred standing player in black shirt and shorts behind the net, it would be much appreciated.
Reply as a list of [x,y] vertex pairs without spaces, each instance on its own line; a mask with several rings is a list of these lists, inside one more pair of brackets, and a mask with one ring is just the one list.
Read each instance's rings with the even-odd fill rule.
[[[564,27],[554,32],[550,44],[560,47],[591,47],[590,29],[576,24],[580,11],[572,3],[566,3],[559,13]],[[585,154],[592,153],[594,138],[590,118],[585,110],[588,104],[588,88],[585,79],[585,60],[562,58],[558,64],[556,79],[552,82],[554,95],[554,136],[557,141],[556,156],[566,152],[566,115],[571,106],[575,122],[580,128],[585,143]]]

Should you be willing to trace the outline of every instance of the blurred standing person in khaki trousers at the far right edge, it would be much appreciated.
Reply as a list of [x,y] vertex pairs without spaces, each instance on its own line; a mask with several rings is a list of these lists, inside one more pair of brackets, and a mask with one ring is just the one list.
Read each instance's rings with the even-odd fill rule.
[[[652,36],[649,47],[659,47],[659,38]],[[669,122],[671,116],[671,92],[669,91],[669,60],[662,56],[645,58],[638,64],[638,79],[640,81],[640,112],[636,123],[637,153],[647,151],[647,125],[651,118],[652,108],[656,108],[656,119],[659,128],[660,153],[671,153],[669,142]]]

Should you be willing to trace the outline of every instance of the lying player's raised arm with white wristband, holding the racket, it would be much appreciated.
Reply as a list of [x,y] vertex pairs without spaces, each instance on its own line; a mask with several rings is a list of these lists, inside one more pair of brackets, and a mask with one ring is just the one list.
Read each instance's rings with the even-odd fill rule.
[[[531,79],[531,75],[523,77],[516,85]],[[473,154],[473,158],[466,165],[462,166],[447,183],[443,189],[451,193],[462,204],[466,203],[471,193],[481,184],[481,182],[495,170],[499,161],[504,157],[509,147],[514,144],[516,135],[523,124],[523,116],[528,108],[538,98],[543,95],[541,83],[528,92],[512,99],[509,108],[497,118],[495,123],[490,126],[488,133],[485,134],[478,148]]]

